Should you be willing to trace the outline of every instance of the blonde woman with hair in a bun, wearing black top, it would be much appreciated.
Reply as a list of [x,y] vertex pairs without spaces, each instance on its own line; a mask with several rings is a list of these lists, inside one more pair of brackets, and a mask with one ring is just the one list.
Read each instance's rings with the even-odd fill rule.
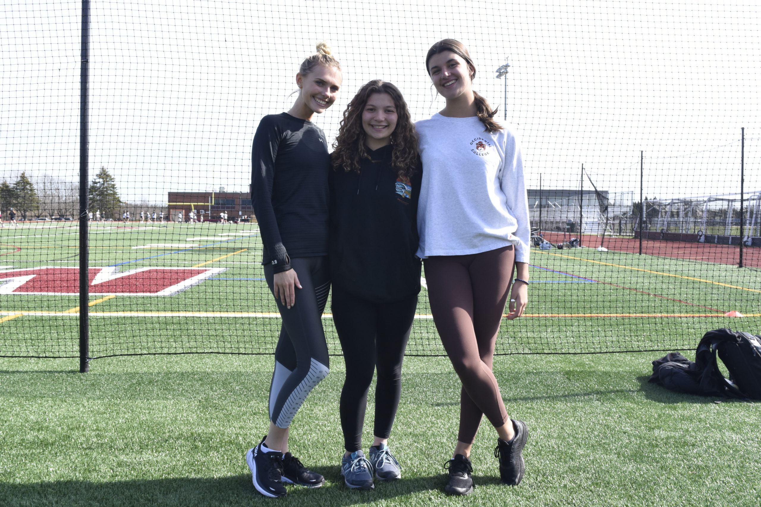
[[286,493],[283,482],[319,487],[323,476],[288,452],[288,428],[329,370],[321,322],[328,274],[328,172],[323,131],[311,122],[333,105],[339,62],[325,43],[296,74],[298,97],[288,112],[265,116],[252,151],[253,210],[264,245],[263,265],[282,328],[269,391],[269,432],[246,454],[253,485],[264,496]]

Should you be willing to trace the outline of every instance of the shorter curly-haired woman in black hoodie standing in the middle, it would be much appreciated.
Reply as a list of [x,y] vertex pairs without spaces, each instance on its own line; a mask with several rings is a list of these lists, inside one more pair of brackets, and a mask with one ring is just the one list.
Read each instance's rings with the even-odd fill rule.
[[[333,322],[346,364],[341,391],[350,488],[400,477],[388,439],[402,360],[420,292],[417,208],[422,170],[418,138],[400,90],[370,81],[343,113],[330,173],[330,278]],[[368,389],[377,369],[374,441],[361,450]]]

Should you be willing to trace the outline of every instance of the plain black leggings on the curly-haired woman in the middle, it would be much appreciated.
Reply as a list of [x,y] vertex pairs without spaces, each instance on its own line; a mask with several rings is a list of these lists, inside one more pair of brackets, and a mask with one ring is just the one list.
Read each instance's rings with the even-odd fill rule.
[[402,360],[418,296],[396,303],[371,303],[333,287],[331,303],[346,364],[341,429],[346,450],[355,452],[362,448],[368,390],[376,366],[374,435],[387,439],[391,434],[402,392]]

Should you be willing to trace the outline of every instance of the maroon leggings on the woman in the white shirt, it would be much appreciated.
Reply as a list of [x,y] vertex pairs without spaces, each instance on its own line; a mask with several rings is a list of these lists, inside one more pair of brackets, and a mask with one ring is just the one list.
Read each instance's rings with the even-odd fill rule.
[[512,246],[424,261],[433,320],[463,383],[457,439],[466,444],[476,439],[482,414],[495,428],[508,422],[492,362],[514,261]]

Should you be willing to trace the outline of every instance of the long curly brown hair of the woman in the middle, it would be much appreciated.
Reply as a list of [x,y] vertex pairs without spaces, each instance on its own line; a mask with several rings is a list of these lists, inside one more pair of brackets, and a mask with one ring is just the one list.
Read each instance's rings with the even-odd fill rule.
[[365,147],[365,128],[362,127],[362,111],[373,93],[387,93],[396,106],[396,128],[391,134],[393,154],[391,166],[399,176],[409,178],[418,166],[418,133],[409,115],[407,103],[399,88],[387,81],[374,79],[363,85],[346,106],[338,137],[333,141],[333,169],[359,171],[359,161],[370,158]]

